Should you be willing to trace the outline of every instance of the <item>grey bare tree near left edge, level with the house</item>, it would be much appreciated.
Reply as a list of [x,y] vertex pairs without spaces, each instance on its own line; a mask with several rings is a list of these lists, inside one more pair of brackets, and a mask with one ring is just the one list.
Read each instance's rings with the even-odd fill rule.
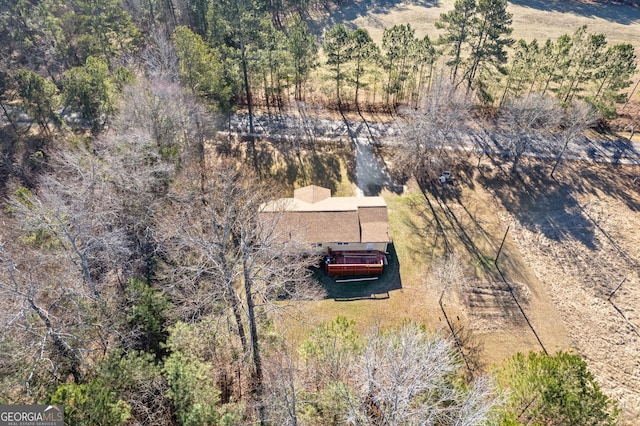
[[105,170],[85,149],[68,151],[51,161],[56,170],[41,179],[37,193],[20,189],[9,200],[12,213],[32,244],[67,258],[81,272],[92,297],[100,281],[129,257],[124,230],[107,207],[113,193]]

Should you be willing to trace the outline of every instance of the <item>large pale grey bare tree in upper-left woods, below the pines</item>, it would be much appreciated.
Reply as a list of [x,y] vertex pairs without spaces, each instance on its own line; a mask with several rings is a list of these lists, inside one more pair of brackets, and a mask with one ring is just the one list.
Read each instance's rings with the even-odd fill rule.
[[204,179],[205,142],[213,126],[192,94],[162,79],[141,79],[127,87],[120,111],[114,132],[98,140],[96,149],[110,165],[121,215],[139,250],[143,276],[150,280],[160,202],[182,168],[198,164],[200,180]]

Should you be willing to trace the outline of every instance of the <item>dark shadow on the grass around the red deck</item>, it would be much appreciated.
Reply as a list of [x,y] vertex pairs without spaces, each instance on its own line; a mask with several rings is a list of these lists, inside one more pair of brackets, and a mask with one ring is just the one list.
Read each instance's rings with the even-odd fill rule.
[[[384,272],[378,279],[371,281],[336,282],[336,279],[329,277],[323,268],[314,268],[314,277],[326,291],[327,299],[334,299],[337,302],[348,302],[353,300],[378,300],[388,299],[389,292],[402,288],[400,278],[400,263],[393,244],[389,244],[387,263]],[[338,279],[349,278],[339,277]],[[358,278],[358,277],[354,277]]]

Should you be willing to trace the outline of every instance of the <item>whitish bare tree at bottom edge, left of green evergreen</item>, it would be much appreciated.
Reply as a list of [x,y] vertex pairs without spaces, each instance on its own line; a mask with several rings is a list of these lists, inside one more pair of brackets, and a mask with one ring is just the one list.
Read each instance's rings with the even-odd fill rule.
[[451,343],[414,323],[374,330],[354,365],[349,421],[375,425],[480,425],[498,399],[486,378],[456,383],[459,362]]

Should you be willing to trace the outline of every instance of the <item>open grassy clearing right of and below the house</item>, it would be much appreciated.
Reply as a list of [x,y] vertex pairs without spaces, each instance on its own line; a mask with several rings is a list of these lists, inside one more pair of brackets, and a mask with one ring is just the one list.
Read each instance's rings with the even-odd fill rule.
[[[383,192],[397,275],[377,284],[333,283],[331,299],[294,303],[291,315],[276,320],[278,332],[295,346],[311,327],[338,315],[355,320],[361,332],[405,319],[444,333],[451,324],[479,370],[515,352],[576,351],[623,401],[627,418],[635,418],[640,394],[630,372],[637,336],[607,296],[627,277],[615,302],[637,321],[638,168],[567,161],[553,180],[551,164],[527,160],[523,167],[527,173],[518,179],[499,163],[483,162],[459,172],[454,191],[434,187],[427,198],[414,183],[401,195]],[[507,227],[501,275],[494,260]],[[430,272],[446,246],[461,259],[466,281],[443,293]],[[336,295],[341,285],[349,287]]]

